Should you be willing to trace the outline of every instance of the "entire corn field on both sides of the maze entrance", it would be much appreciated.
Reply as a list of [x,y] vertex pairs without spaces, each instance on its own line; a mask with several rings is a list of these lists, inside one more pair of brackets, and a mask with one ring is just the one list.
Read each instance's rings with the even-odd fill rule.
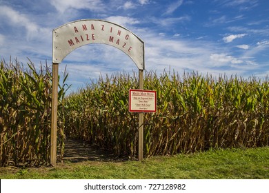
[[[65,136],[118,156],[137,157],[138,114],[128,112],[128,91],[138,74],[112,74],[65,96],[59,83],[57,152]],[[269,145],[269,79],[146,72],[144,89],[157,91],[157,112],[145,113],[144,156],[255,148]],[[1,165],[50,162],[52,72],[32,62],[0,65]]]

